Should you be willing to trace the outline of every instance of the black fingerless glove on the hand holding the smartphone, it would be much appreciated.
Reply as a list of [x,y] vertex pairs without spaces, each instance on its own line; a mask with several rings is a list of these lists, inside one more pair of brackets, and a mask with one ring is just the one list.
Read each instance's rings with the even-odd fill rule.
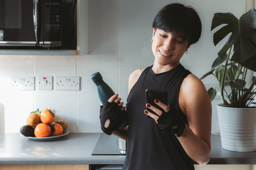
[[[186,123],[183,121],[180,113],[174,110],[170,106],[168,112],[163,112],[161,116],[157,119],[158,127],[163,131],[163,133],[174,133],[177,137],[180,137],[185,129]],[[173,126],[177,125],[176,129]]]

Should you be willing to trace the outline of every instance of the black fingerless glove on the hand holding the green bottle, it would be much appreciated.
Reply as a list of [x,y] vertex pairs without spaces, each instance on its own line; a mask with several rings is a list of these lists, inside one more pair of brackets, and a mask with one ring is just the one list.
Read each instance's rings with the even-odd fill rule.
[[[118,128],[122,129],[128,125],[129,119],[126,111],[121,111],[121,107],[115,102],[106,101],[103,106],[100,106],[100,124],[101,130],[108,135]],[[109,127],[105,128],[106,120],[110,120]]]

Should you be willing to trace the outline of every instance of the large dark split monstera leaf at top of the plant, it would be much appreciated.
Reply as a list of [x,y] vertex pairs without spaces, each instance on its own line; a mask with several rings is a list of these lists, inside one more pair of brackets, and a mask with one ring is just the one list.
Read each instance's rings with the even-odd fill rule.
[[256,71],[256,9],[249,10],[240,19],[237,19],[230,12],[215,13],[211,30],[221,24],[227,25],[214,33],[214,45],[217,45],[229,33],[232,34],[218,53],[220,59],[223,61],[228,49],[234,45],[231,61]]

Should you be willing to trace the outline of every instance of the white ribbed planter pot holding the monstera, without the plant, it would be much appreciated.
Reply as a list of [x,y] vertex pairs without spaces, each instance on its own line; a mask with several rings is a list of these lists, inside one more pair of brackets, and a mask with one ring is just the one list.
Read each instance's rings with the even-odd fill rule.
[[217,105],[221,146],[237,152],[256,151],[256,108]]

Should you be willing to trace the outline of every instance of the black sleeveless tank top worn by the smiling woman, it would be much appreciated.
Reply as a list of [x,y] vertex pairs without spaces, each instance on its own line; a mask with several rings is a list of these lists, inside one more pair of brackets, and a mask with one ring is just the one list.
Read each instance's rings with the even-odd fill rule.
[[[181,64],[167,72],[155,74],[152,66],[147,67],[132,87],[127,97],[129,116],[127,152],[124,170],[183,170],[194,169],[192,159],[187,155],[174,134],[163,134],[154,119],[147,118],[145,90],[168,91],[168,104],[176,110],[178,90],[184,78],[190,74]],[[180,110],[184,121],[187,116]]]

